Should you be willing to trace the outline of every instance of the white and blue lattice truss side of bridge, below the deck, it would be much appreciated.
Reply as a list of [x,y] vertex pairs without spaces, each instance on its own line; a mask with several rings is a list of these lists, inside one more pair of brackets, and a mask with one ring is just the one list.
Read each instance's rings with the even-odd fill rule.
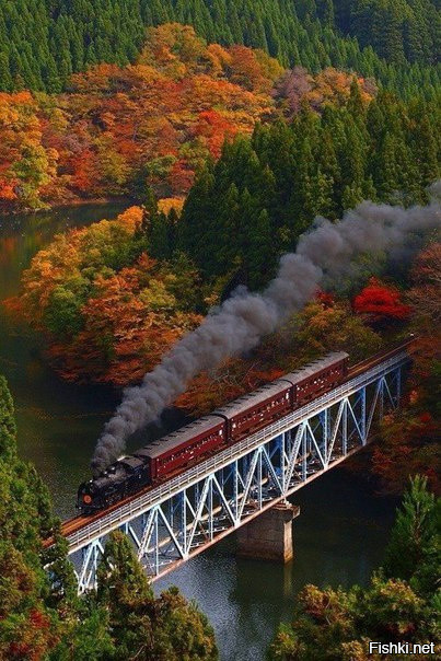
[[[398,406],[403,363],[380,373],[123,525],[154,580],[362,449],[375,421]],[[71,553],[79,592],[94,588],[105,546],[97,535]]]

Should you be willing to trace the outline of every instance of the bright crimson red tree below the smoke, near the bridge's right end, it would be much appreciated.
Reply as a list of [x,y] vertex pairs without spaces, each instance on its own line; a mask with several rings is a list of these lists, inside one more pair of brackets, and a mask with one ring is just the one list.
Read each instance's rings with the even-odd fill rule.
[[409,305],[401,301],[401,293],[393,287],[371,278],[369,285],[355,298],[353,310],[357,314],[369,316],[376,323],[391,320],[406,320],[410,314]]

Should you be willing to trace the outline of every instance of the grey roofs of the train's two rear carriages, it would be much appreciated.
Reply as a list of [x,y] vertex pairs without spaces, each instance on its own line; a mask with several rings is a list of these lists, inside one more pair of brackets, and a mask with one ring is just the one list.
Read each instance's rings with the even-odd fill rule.
[[332,353],[327,353],[324,358],[320,360],[315,360],[310,364],[297,370],[295,372],[289,372],[288,374],[283,374],[277,381],[271,381],[270,383],[266,383],[262,385],[257,390],[252,393],[247,393],[237,399],[233,399],[225,406],[217,408],[213,413],[214,415],[225,416],[227,418],[231,418],[232,416],[236,416],[241,413],[244,413],[248,408],[252,408],[266,399],[269,399],[274,395],[278,395],[279,393],[290,387],[290,383],[295,385],[300,383],[307,376],[320,372],[345,358],[348,358],[349,355],[345,353],[345,351],[333,351]]

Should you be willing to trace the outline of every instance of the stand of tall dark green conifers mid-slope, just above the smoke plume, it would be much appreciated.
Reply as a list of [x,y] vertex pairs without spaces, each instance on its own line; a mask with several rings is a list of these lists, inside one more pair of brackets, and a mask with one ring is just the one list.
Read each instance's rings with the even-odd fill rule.
[[[231,274],[262,287],[315,216],[340,218],[367,197],[426,201],[439,175],[439,129],[436,103],[381,93],[361,112],[356,84],[346,106],[327,105],[322,115],[303,108],[290,125],[257,126],[196,178],[177,243],[206,278]],[[165,233],[163,225],[170,252]]]

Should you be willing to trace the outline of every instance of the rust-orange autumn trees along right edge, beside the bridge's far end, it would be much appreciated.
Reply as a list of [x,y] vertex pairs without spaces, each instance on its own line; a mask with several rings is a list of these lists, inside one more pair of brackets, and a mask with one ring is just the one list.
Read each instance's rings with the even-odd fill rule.
[[434,491],[440,488],[439,253],[439,243],[431,243],[411,268],[414,286],[407,299],[416,337],[406,406],[385,418],[384,442],[373,455],[373,468],[386,490],[402,490],[408,476],[417,473]]

